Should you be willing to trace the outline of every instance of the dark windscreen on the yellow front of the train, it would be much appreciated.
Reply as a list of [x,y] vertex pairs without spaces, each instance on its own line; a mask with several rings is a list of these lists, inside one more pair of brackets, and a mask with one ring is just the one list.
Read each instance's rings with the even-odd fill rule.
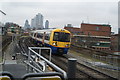
[[64,32],[54,32],[53,41],[70,42],[70,34]]

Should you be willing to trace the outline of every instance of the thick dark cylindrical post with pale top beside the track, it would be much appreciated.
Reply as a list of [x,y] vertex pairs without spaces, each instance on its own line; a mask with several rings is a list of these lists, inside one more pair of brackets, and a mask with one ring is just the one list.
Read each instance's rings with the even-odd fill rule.
[[77,59],[75,58],[69,58],[68,59],[68,79],[69,78],[75,78],[76,73],[76,62]]

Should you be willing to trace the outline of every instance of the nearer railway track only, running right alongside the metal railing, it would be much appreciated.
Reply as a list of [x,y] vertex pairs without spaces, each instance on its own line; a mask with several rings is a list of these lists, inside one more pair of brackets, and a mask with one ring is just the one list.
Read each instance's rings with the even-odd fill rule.
[[[43,55],[46,58],[48,58],[48,56]],[[59,58],[58,58],[59,57]],[[52,62],[54,62],[57,66],[61,67],[63,70],[65,70],[67,72],[67,63],[68,63],[68,59],[63,58],[61,56],[57,56],[57,55],[52,55]],[[76,69],[76,78],[77,79],[89,79],[89,80],[96,80],[96,78],[93,78],[92,76],[84,73],[83,71],[81,71],[78,66]]]

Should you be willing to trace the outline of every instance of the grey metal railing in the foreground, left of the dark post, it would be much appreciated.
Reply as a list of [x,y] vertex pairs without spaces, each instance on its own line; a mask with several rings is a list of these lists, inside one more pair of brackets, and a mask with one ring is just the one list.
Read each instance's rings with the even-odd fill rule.
[[[55,71],[61,73],[65,79],[67,79],[66,72],[51,62],[51,48],[28,47],[28,49],[29,49],[28,61],[24,61],[28,65],[28,72],[30,71],[30,68],[32,68],[31,70],[34,70],[36,72],[45,72],[46,65],[49,65]],[[39,50],[39,52],[37,53],[35,50]],[[50,50],[49,60],[41,56],[42,54],[41,50]]]

